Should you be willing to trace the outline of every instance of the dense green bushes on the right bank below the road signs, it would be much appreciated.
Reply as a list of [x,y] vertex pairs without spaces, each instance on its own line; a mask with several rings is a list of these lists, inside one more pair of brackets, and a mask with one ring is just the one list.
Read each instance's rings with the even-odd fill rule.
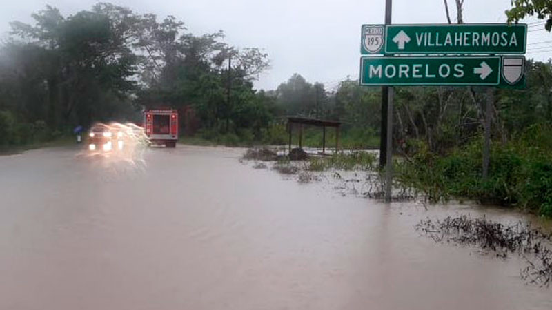
[[444,156],[418,142],[416,154],[397,167],[400,183],[433,201],[464,197],[552,216],[551,125],[533,125],[507,143],[493,143],[486,180],[481,177],[482,138]]

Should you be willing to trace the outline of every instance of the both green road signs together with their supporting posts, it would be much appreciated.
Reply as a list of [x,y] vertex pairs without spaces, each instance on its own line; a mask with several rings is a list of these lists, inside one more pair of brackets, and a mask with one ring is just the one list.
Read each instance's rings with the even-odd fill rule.
[[[360,85],[382,86],[380,167],[387,167],[391,200],[393,86],[487,86],[524,88],[527,25],[391,25],[386,0],[385,25],[362,25]],[[423,54],[423,56],[422,56]],[[489,56],[482,56],[489,55]],[[489,167],[490,112],[486,113],[484,175]]]

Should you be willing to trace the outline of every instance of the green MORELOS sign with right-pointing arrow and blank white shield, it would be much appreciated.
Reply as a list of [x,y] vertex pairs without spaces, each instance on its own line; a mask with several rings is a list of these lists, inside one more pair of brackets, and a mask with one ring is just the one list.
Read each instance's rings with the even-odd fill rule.
[[[507,68],[509,83],[519,83],[524,59],[511,57]],[[522,61],[519,61],[522,59]],[[362,57],[360,84],[382,85],[488,85],[501,83],[500,56],[488,57]]]

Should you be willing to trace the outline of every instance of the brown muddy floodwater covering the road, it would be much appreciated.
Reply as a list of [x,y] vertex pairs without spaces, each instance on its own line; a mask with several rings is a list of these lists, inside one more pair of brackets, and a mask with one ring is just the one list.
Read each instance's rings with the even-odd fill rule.
[[41,149],[0,157],[0,309],[552,309],[522,262],[437,245],[426,216],[299,185],[239,149],[141,163]]

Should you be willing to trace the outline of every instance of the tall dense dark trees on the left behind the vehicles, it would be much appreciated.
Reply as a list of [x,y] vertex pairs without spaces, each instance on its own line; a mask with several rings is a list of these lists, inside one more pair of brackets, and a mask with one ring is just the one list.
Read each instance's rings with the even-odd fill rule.
[[190,132],[229,140],[259,139],[269,125],[274,99],[252,83],[267,55],[221,43],[222,32],[195,36],[174,17],[110,3],[68,17],[47,6],[32,17],[34,25],[12,22],[0,45],[0,144],[52,136],[37,126],[68,133],[96,121],[139,122],[144,107],[188,111]]

